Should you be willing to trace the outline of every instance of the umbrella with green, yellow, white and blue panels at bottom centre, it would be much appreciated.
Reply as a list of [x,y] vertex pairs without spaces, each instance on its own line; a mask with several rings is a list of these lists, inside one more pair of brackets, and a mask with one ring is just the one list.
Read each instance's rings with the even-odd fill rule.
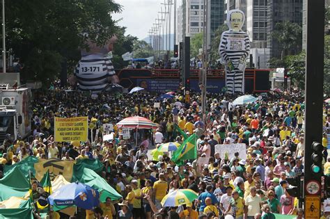
[[179,206],[182,204],[189,204],[198,198],[198,194],[191,189],[177,189],[168,193],[163,198],[161,204],[166,206]]

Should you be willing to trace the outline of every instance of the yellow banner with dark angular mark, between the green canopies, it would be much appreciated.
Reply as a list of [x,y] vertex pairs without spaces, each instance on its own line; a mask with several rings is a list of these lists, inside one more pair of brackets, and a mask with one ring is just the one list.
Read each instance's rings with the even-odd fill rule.
[[67,181],[71,181],[74,163],[75,161],[39,159],[39,162],[34,164],[34,168],[36,169],[36,179],[40,181],[47,170],[49,170],[51,180],[53,180],[58,175],[63,175]]

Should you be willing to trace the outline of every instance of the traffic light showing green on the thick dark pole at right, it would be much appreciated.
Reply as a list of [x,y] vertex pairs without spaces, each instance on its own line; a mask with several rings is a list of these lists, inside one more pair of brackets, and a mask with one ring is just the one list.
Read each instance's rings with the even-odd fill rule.
[[321,179],[322,177],[322,160],[323,160],[323,146],[320,143],[313,142],[312,144],[312,166],[311,171],[314,179]]

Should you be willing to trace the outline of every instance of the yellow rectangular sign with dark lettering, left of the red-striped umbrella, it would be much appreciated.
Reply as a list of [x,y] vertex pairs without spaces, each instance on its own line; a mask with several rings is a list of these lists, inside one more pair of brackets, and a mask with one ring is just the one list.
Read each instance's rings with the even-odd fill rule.
[[86,141],[88,137],[88,117],[55,117],[55,141]]

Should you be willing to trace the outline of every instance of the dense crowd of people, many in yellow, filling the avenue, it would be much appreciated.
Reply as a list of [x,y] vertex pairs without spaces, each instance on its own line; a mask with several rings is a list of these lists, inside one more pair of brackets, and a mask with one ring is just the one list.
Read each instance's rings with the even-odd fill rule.
[[[89,92],[65,92],[57,87],[35,92],[33,134],[26,141],[7,136],[0,146],[0,166],[13,165],[27,156],[99,159],[104,163],[102,177],[123,200],[108,198],[100,207],[86,211],[86,218],[271,219],[274,213],[304,217],[297,198],[288,193],[288,178],[304,172],[304,97],[299,90],[269,95],[244,106],[234,106],[233,96],[209,94],[205,115],[201,114],[201,95],[192,94],[191,102],[185,103],[177,94],[156,108],[158,96],[100,93],[91,98]],[[123,139],[116,123],[134,115],[147,117],[159,128],[132,130],[131,138]],[[103,141],[100,131],[87,142],[55,142],[54,117],[77,116],[88,116],[97,127],[112,123],[116,138]],[[183,136],[175,131],[175,124],[187,136],[196,134],[198,157],[209,158],[207,164],[199,166],[195,159],[178,166],[171,153],[159,152],[162,143],[182,144]],[[330,106],[324,104],[325,157],[327,133]],[[238,152],[220,157],[214,150],[215,145],[233,143],[246,145],[246,159],[239,159]],[[324,161],[324,174],[330,175],[330,159]],[[194,190],[198,199],[164,208],[164,196],[180,188]],[[52,216],[56,218],[57,213]],[[322,217],[329,216],[330,204],[324,204]]]

